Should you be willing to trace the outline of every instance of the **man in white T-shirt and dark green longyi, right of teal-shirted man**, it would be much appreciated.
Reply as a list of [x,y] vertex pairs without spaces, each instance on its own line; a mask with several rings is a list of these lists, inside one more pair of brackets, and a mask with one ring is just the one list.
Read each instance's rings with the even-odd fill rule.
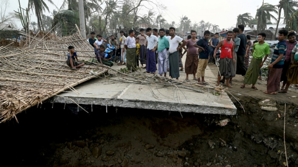
[[[184,46],[186,41],[182,39],[181,37],[175,35],[175,28],[170,27],[170,48],[169,48],[169,64],[170,64],[170,76],[172,78],[176,78],[177,80],[179,79],[179,53],[178,50],[181,49],[181,46]],[[180,46],[179,42],[182,42]]]

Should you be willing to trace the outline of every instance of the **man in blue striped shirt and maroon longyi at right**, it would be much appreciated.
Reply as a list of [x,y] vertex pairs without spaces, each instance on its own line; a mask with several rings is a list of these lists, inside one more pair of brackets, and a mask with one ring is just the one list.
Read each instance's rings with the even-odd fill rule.
[[268,66],[268,79],[267,79],[267,91],[263,91],[266,94],[276,94],[279,91],[280,76],[284,66],[285,54],[287,51],[287,44],[285,38],[288,35],[288,31],[285,29],[278,32],[278,43],[274,48],[272,54],[271,64]]

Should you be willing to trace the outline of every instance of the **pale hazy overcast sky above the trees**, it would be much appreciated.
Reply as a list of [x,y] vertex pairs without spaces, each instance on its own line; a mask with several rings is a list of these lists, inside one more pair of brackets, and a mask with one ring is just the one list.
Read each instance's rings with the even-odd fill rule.
[[[0,0],[3,1],[3,0]],[[13,12],[13,10],[18,10],[19,2],[18,0],[8,0],[10,6],[8,7],[8,12]],[[47,2],[47,0],[44,0]],[[52,0],[53,3],[60,8],[63,0]],[[243,13],[251,13],[251,16],[255,17],[257,8],[262,5],[263,0],[151,0],[153,3],[158,3],[160,5],[166,6],[167,9],[163,11],[158,11],[155,5],[152,3],[144,3],[148,8],[153,8],[158,14],[163,15],[168,23],[175,21],[179,23],[180,18],[187,16],[192,23],[200,22],[204,20],[205,22],[210,22],[212,24],[219,25],[220,29],[229,28],[236,26],[237,15]],[[264,0],[264,3],[270,3],[272,5],[277,5],[279,0]],[[28,0],[20,0],[22,7],[28,6]],[[50,11],[52,12],[55,7],[48,4]],[[141,8],[140,16],[143,16],[148,12],[145,7]],[[49,12],[45,12],[45,15],[51,15]],[[156,14],[156,16],[157,16]],[[31,20],[36,21],[36,17],[33,13],[30,13]],[[275,14],[274,14],[275,15]],[[283,14],[282,14],[283,15]],[[276,17],[278,15],[276,14]],[[282,21],[282,20],[281,20]],[[274,21],[272,21],[274,23]],[[21,25],[18,25],[19,28]]]

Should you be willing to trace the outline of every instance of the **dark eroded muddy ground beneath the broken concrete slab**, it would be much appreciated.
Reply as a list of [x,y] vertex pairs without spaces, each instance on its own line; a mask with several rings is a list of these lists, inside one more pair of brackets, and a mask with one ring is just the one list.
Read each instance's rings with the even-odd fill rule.
[[[268,112],[253,97],[234,96],[245,112],[234,99],[232,117],[114,107],[106,113],[101,106],[74,114],[76,106],[43,104],[19,114],[19,124],[0,124],[0,166],[285,166],[284,102]],[[298,107],[286,103],[286,151],[294,167]]]

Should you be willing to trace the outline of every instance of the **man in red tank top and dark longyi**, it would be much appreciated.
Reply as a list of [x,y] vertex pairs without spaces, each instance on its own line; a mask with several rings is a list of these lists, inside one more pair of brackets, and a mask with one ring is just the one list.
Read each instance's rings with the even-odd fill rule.
[[219,71],[217,76],[217,84],[215,86],[219,86],[221,76],[224,76],[226,78],[226,86],[232,87],[229,81],[231,77],[235,76],[233,63],[236,62],[234,59],[235,43],[231,40],[232,36],[233,31],[228,31],[226,34],[226,39],[221,40],[214,50],[213,57],[216,56],[217,50],[221,48],[221,59],[219,60]]

